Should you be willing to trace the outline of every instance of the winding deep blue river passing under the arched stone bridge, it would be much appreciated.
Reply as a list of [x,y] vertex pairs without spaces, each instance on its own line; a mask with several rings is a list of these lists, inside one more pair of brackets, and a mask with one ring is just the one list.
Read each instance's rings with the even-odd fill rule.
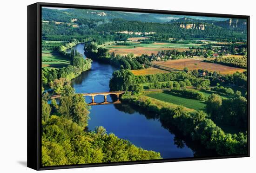
[[[79,44],[72,49],[84,55],[83,47],[84,44]],[[76,93],[109,91],[109,80],[114,70],[117,68],[93,61],[92,69],[82,72],[79,77],[73,79],[72,86]],[[110,101],[111,97],[108,96],[107,99]],[[94,101],[101,103],[104,101],[104,96],[95,96]],[[86,96],[86,102],[90,103],[91,98]],[[201,151],[202,148],[199,148],[199,154],[196,154],[197,149],[193,143],[190,144],[192,147],[188,147],[186,140],[183,141],[178,137],[182,135],[170,133],[168,129],[162,127],[162,123],[157,118],[152,116],[154,117],[124,103],[95,105],[90,109],[88,128],[94,130],[96,126],[103,126],[107,133],[114,133],[119,138],[131,141],[137,147],[160,152],[164,159],[194,157],[194,154],[202,156],[204,153]]]

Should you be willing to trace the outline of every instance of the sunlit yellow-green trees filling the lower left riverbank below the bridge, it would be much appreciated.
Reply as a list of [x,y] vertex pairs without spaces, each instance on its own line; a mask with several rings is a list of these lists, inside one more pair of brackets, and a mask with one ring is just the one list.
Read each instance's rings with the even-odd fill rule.
[[47,94],[43,95],[42,166],[161,159],[159,153],[107,134],[101,126],[88,131],[90,107],[70,83],[60,85],[59,104],[54,99],[48,104]]

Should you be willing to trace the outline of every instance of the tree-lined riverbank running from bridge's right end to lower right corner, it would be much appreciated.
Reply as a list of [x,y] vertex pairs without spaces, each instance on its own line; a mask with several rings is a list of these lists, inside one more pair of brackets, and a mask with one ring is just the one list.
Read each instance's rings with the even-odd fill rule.
[[214,149],[219,155],[247,154],[247,135],[225,134],[221,128],[202,111],[189,113],[182,106],[176,108],[167,107],[161,103],[154,103],[150,99],[143,99],[142,96],[133,96],[128,93],[121,96],[121,101],[131,103],[144,110],[155,113],[161,122],[167,126],[177,128],[183,135],[192,141],[200,141],[207,149]]

